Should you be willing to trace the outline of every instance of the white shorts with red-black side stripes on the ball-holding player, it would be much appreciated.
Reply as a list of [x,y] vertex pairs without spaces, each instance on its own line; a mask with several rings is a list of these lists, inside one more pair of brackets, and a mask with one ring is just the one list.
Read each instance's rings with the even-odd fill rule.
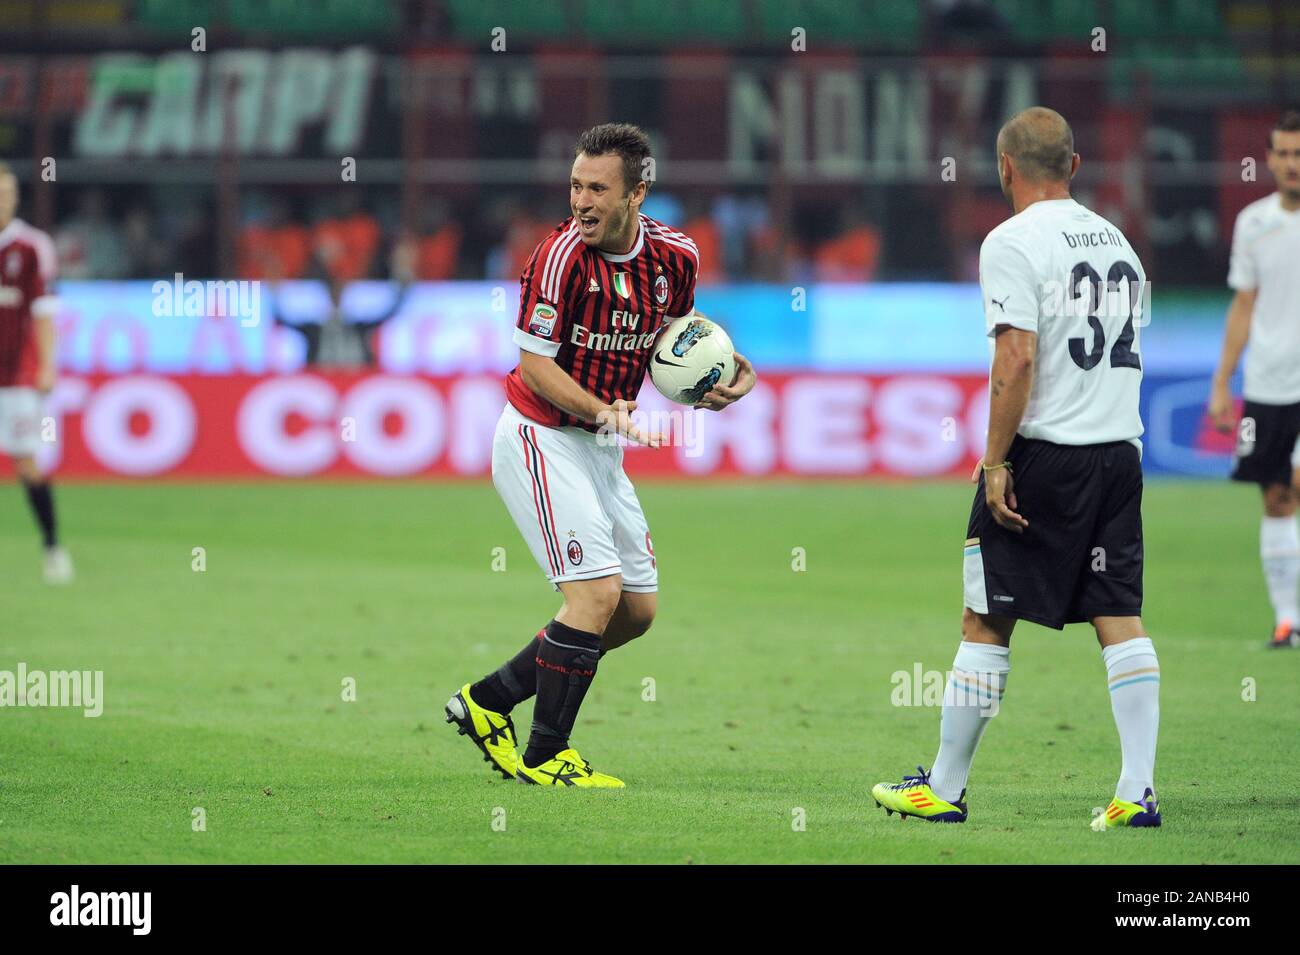
[[581,427],[540,425],[507,404],[491,481],[551,583],[623,574],[633,594],[659,589],[650,528],[619,444]]

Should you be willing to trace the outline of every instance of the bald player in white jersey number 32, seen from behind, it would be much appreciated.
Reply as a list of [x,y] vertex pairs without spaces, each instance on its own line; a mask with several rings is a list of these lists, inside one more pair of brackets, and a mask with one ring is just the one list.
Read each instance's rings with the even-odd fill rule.
[[962,642],[931,772],[871,794],[890,813],[965,822],[967,777],[1006,687],[1017,620],[1057,630],[1088,621],[1123,759],[1115,796],[1092,825],[1157,826],[1160,664],[1141,621],[1145,273],[1123,233],[1070,197],[1079,156],[1060,113],[1014,116],[997,156],[1015,214],[980,248],[992,368]]

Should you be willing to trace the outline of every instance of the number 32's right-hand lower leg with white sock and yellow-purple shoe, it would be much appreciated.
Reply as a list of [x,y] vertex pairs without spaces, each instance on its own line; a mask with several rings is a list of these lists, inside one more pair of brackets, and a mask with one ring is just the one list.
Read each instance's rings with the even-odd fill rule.
[[1158,826],[1156,738],[1160,732],[1160,661],[1141,617],[1093,617],[1110,685],[1110,712],[1123,763],[1115,798],[1093,820],[1102,826]]

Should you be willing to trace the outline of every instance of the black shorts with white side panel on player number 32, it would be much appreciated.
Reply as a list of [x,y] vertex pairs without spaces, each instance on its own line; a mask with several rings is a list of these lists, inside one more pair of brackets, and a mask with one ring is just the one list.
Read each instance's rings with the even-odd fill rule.
[[1141,613],[1141,457],[1128,442],[1008,452],[1023,534],[998,526],[980,476],[966,528],[966,605],[1060,630]]

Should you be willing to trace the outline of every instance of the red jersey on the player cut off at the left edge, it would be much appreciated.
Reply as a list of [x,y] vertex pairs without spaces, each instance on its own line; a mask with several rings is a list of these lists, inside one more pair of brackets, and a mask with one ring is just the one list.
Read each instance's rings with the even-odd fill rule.
[[55,243],[21,218],[0,229],[0,388],[36,383],[34,313],[53,311]]

